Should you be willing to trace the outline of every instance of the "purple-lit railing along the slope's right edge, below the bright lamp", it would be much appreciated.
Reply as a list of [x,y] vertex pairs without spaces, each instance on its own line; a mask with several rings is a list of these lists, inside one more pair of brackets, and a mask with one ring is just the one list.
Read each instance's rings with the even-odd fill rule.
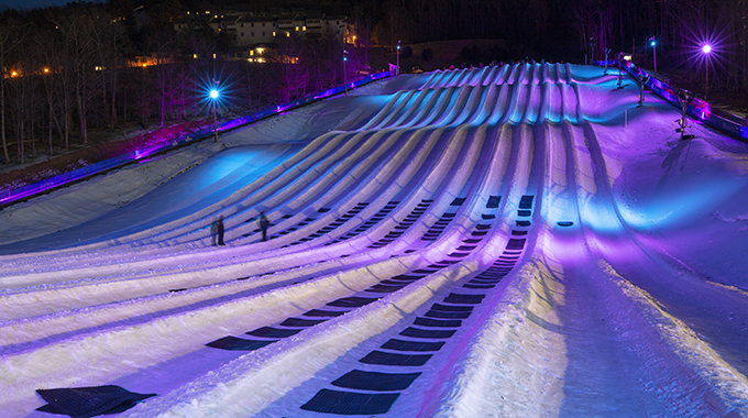
[[[617,62],[615,64],[618,65]],[[639,75],[647,77],[648,80],[645,85],[651,89],[653,94],[678,109],[681,109],[681,99],[678,98],[678,91],[680,89],[659,80],[631,62],[622,61],[622,67],[625,68],[635,80],[638,79],[637,77]],[[748,120],[724,110],[712,108],[708,102],[697,97],[694,97],[688,102],[686,114],[733,138],[744,141],[748,140]]]

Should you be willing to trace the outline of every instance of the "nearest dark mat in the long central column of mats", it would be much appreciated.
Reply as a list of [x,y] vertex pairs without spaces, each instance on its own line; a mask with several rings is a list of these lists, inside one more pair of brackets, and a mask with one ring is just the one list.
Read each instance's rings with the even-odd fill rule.
[[377,415],[385,414],[400,394],[360,394],[321,389],[301,409],[322,414]]

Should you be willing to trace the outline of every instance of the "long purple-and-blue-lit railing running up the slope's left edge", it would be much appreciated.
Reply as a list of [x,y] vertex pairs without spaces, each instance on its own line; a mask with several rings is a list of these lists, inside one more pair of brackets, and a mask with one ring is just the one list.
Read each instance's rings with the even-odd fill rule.
[[[294,100],[292,102],[285,103],[285,105],[278,105],[278,106],[272,106],[265,109],[262,109],[257,112],[250,113],[245,117],[237,118],[227,122],[221,123],[218,127],[219,132],[226,132],[230,131],[234,128],[255,122],[257,120],[268,118],[282,112],[285,112],[287,110],[298,108],[308,103],[311,103],[317,100],[324,99],[330,96],[334,96],[338,94],[343,92],[345,89],[353,89],[356,87],[361,87],[365,84],[372,82],[374,80],[389,77],[391,73],[389,72],[382,72],[382,73],[376,73],[373,74],[369,77],[364,77],[358,81],[352,81],[349,82],[348,85],[344,86],[339,86],[331,88],[327,91],[322,91],[320,94],[315,94],[310,95],[297,100]],[[18,188],[9,188],[7,191],[2,193],[0,196],[0,207],[7,206],[9,204],[12,204],[14,201],[21,200],[29,198],[31,196],[51,190],[53,188],[57,188],[61,186],[64,186],[66,184],[77,182],[80,179],[84,179],[86,177],[90,177],[103,172],[107,172],[112,168],[121,167],[130,163],[138,162],[140,160],[143,160],[147,157],[148,155],[173,150],[175,147],[185,145],[187,143],[194,142],[194,141],[200,141],[206,138],[211,138],[213,135],[213,128],[211,127],[202,127],[208,123],[209,121],[202,121],[200,122],[200,128],[196,131],[191,131],[193,128],[195,128],[195,123],[188,123],[188,127],[185,129],[178,129],[180,132],[174,133],[174,128],[165,128],[163,130],[158,130],[155,132],[151,132],[147,134],[144,134],[142,146],[139,148],[124,153],[122,155],[116,156],[113,158],[105,160],[99,163],[90,164],[81,168],[73,169],[59,175],[56,175],[54,177],[46,178],[41,182],[32,183],[30,185],[21,186]],[[183,125],[179,125],[184,128]],[[150,139],[148,139],[150,136]],[[155,141],[154,141],[155,140]],[[136,141],[135,141],[136,142]]]

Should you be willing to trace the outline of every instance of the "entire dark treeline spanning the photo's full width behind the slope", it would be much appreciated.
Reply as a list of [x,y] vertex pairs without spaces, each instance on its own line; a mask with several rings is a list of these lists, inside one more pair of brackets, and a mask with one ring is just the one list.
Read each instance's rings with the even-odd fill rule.
[[[258,65],[231,59],[238,50],[226,33],[207,26],[175,32],[172,24],[187,10],[284,7],[346,15],[358,47],[330,34],[292,36],[273,45],[275,57]],[[496,38],[509,45],[507,59],[584,63],[610,50],[610,57],[634,53],[637,64],[652,68],[648,40],[654,37],[663,78],[700,88],[708,68],[712,91],[745,98],[745,0],[108,0],[6,10],[0,12],[2,161],[85,145],[94,132],[206,117],[207,87],[215,79],[229,88],[223,103],[233,110],[293,100],[340,85],[343,70],[355,77],[366,67],[370,43],[393,48],[397,41]],[[698,58],[705,42],[715,43],[708,63]],[[349,50],[345,66],[343,48]],[[486,55],[475,50],[468,55]]]

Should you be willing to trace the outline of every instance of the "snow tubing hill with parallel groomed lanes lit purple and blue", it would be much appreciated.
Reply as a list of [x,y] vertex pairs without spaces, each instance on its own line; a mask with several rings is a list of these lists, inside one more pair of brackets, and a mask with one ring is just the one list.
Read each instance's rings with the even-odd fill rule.
[[[624,111],[650,133],[679,113],[615,85],[558,64],[397,77],[321,106],[349,110],[264,150],[264,175],[191,190],[241,160],[224,152],[119,209],[127,228],[6,245],[2,410],[113,384],[158,395],[130,417],[748,416],[743,284],[644,233],[622,197],[652,188],[631,156],[656,154]],[[689,152],[718,163],[717,140]]]

